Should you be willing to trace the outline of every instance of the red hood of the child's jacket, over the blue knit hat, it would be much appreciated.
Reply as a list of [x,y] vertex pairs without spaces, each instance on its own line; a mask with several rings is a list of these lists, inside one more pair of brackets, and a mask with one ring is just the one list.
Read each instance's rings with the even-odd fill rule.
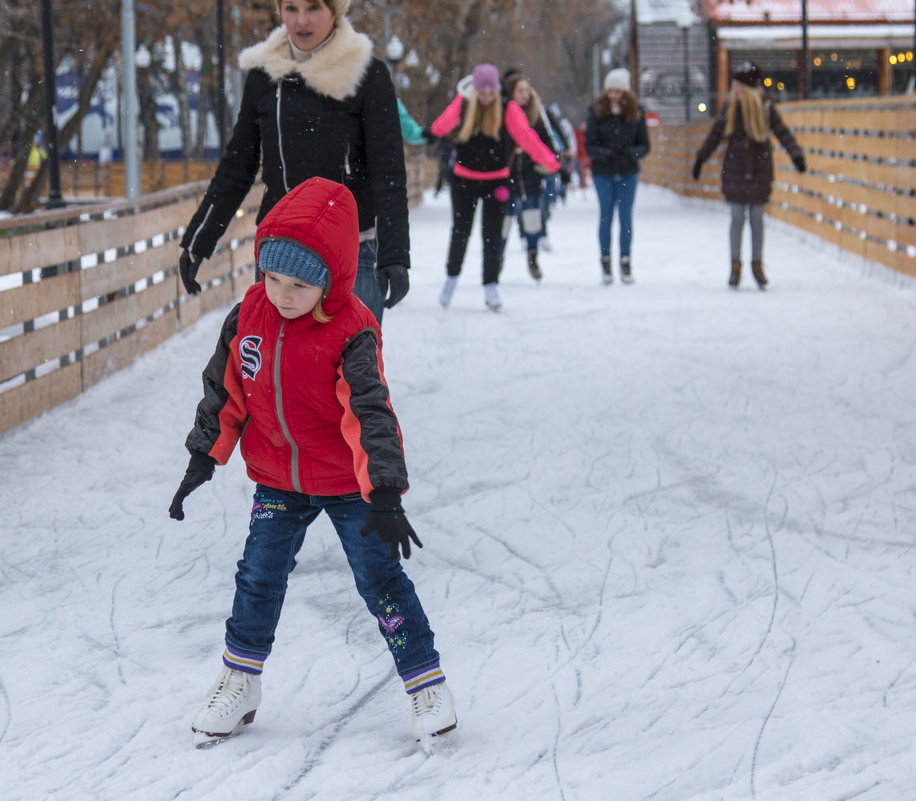
[[316,253],[327,265],[329,286],[322,307],[333,315],[356,283],[359,214],[353,194],[327,178],[309,178],[289,191],[258,226],[254,255],[263,240],[285,239]]

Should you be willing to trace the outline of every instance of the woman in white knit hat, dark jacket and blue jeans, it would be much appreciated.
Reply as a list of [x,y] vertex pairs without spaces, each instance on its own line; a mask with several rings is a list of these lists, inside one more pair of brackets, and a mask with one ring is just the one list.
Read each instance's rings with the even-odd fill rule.
[[605,284],[614,280],[611,272],[611,223],[614,207],[620,214],[620,277],[633,281],[630,244],[633,238],[633,202],[639,183],[639,159],[649,153],[646,114],[630,90],[630,73],[611,70],[604,79],[604,91],[589,109],[585,149],[592,160],[592,178],[601,220],[598,246]]

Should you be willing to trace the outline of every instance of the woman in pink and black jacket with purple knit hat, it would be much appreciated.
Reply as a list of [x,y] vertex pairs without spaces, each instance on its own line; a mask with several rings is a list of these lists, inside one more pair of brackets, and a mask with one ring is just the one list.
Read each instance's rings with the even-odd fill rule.
[[443,307],[451,303],[477,201],[482,200],[484,300],[487,308],[495,311],[502,306],[496,285],[502,266],[502,226],[509,199],[507,184],[512,152],[516,146],[522,148],[548,173],[555,173],[560,168],[559,162],[528,125],[518,104],[510,100],[503,106],[499,70],[492,64],[474,67],[472,88],[449,104],[432,124],[432,132],[436,136],[449,136],[455,142],[448,277],[439,302]]

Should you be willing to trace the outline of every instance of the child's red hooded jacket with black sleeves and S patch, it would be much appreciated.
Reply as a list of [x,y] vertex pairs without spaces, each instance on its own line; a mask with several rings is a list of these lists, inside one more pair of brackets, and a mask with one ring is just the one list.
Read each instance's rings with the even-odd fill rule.
[[397,418],[381,357],[381,330],[353,295],[359,230],[345,187],[312,178],[286,195],[258,226],[265,238],[293,239],[330,272],[328,323],[311,314],[284,319],[263,283],[248,289],[223,324],[204,371],[204,398],[189,450],[225,464],[241,439],[254,481],[309,495],[407,489]]

